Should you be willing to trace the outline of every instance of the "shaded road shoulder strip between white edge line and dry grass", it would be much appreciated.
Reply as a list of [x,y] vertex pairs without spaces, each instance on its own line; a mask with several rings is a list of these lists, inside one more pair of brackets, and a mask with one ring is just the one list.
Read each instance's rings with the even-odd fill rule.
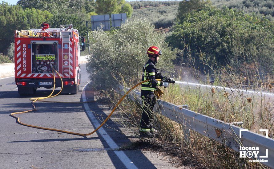
[[[86,88],[86,97],[88,100],[94,99],[95,95],[96,93],[92,91],[91,85],[88,86]],[[100,101],[90,103],[89,108],[99,122],[103,122],[112,110],[108,104]],[[123,150],[127,157],[135,163],[136,167],[189,168],[188,166],[179,165],[179,163],[175,162],[177,159],[166,155],[160,149],[156,149],[156,147],[155,150],[143,146],[132,147],[131,145],[134,145],[139,139],[138,137],[132,136],[127,129],[117,123],[117,121],[121,120],[118,114],[119,113],[115,111],[111,119],[108,120],[102,128],[120,147],[120,150]],[[151,164],[146,164],[146,160],[149,160]]]

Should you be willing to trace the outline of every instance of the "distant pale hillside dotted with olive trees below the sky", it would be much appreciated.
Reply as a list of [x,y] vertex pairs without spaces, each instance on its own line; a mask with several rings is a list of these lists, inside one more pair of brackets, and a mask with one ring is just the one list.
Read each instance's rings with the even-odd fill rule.
[[[274,2],[272,0],[212,0],[211,2],[212,6],[217,7],[217,9],[227,6],[229,9],[243,10],[245,14],[253,15],[254,13],[274,21]],[[180,1],[131,1],[128,3],[134,9],[132,18],[147,18],[151,20],[155,28],[169,28],[175,23]],[[208,3],[210,2],[208,1]],[[187,8],[195,7],[197,6],[194,4]]]

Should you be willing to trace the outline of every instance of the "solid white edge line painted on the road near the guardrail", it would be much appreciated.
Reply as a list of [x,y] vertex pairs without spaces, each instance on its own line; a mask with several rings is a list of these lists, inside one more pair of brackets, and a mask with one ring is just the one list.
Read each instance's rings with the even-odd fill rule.
[[[87,101],[86,92],[85,92],[87,84],[83,88],[83,93],[82,93],[83,102]],[[87,103],[84,103],[84,108],[86,109],[87,116],[92,121],[92,124],[95,125],[95,128],[99,127],[100,124],[99,124],[98,120],[95,118],[95,116],[93,115],[93,113],[91,112]],[[99,132],[101,134],[101,136],[107,142],[107,144],[109,145],[110,148],[112,148],[112,149],[119,148],[119,146],[111,139],[111,137],[107,134],[107,132],[103,128],[100,128],[97,132]],[[127,155],[124,153],[124,151],[114,151],[114,153],[118,156],[118,158],[126,166],[126,168],[130,168],[130,169],[136,168],[137,169],[135,164],[132,163],[132,161],[127,157]]]

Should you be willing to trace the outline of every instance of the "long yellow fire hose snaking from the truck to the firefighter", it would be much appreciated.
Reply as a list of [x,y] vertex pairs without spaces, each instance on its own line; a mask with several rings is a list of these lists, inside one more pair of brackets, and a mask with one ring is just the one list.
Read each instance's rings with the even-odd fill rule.
[[[53,70],[58,74],[58,76],[59,76],[60,79],[61,79],[61,83],[62,83],[61,90],[60,90],[56,95],[54,95],[54,96],[57,96],[58,94],[60,94],[60,92],[61,92],[62,89],[63,89],[63,81],[62,81],[62,78],[61,78],[61,76],[59,75],[59,73],[58,73],[55,69],[53,69]],[[107,122],[107,120],[110,118],[110,116],[112,115],[112,113],[116,110],[116,108],[118,107],[118,105],[122,102],[122,100],[127,96],[127,94],[128,94],[129,92],[131,92],[134,88],[136,88],[137,86],[141,85],[142,83],[148,81],[148,80],[146,80],[146,81],[141,81],[141,82],[138,83],[137,85],[133,86],[130,90],[128,90],[128,91],[124,94],[124,96],[119,100],[119,102],[115,105],[115,107],[112,109],[111,113],[107,116],[107,118],[103,121],[103,123],[102,123],[98,128],[96,128],[94,131],[92,131],[92,132],[90,132],[90,133],[82,134],[82,133],[68,132],[68,131],[59,130],[59,129],[55,129],[55,128],[44,128],[44,127],[39,127],[39,126],[34,126],[34,125],[22,123],[22,122],[19,120],[19,117],[17,117],[17,116],[14,115],[14,114],[20,114],[20,113],[26,113],[26,112],[36,111],[37,108],[35,108],[35,105],[34,105],[34,102],[36,102],[36,101],[52,102],[52,103],[90,103],[90,102],[94,102],[94,101],[86,101],[86,102],[60,102],[60,101],[45,101],[45,100],[42,100],[42,99],[54,97],[54,96],[51,96],[51,95],[53,94],[54,88],[55,88],[55,77],[54,77],[54,73],[53,73],[53,79],[54,79],[54,86],[53,86],[53,90],[52,90],[52,92],[50,93],[49,96],[31,98],[30,100],[32,101],[32,105],[33,105],[33,109],[32,109],[32,110],[27,110],[27,111],[24,111],[24,112],[14,112],[14,113],[11,113],[10,116],[16,118],[17,122],[18,122],[19,124],[24,125],[24,126],[28,126],[28,127],[32,127],[32,128],[38,128],[38,129],[43,129],[43,130],[50,130],[50,131],[55,131],[55,132],[62,132],[62,133],[67,133],[67,134],[72,134],[72,135],[78,135],[78,136],[89,136],[89,135],[95,133],[97,130],[99,130],[99,128],[101,128],[101,127]],[[157,80],[157,81],[161,81],[161,79],[156,79],[156,80]]]

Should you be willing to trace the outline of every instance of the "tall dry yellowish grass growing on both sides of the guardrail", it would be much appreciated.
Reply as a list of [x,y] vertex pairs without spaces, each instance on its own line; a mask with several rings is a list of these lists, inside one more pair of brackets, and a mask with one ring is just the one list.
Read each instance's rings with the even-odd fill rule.
[[[232,69],[223,70],[221,74],[215,74],[215,76],[222,78],[215,78],[213,88],[210,84],[208,88],[199,87],[198,85],[170,85],[163,90],[165,94],[161,99],[176,105],[188,104],[189,109],[192,111],[229,123],[243,121],[242,127],[253,132],[258,132],[259,129],[268,129],[269,137],[273,138],[273,98],[269,99],[266,97],[268,94],[265,95],[260,92],[273,93],[272,88],[269,85],[261,85],[260,80],[254,81],[254,78],[252,85],[249,85],[246,83],[249,80],[248,77],[238,76],[232,72]],[[199,80],[201,79],[197,76],[196,81],[199,82]],[[127,87],[133,85],[128,84]],[[215,86],[221,86],[222,88]],[[232,89],[231,91],[229,88],[236,88],[236,90]],[[242,89],[252,89],[259,92],[248,94],[247,92],[242,92]],[[116,97],[114,103],[117,102],[120,95],[116,95]],[[135,97],[137,99],[138,96]],[[142,112],[141,106],[127,98],[127,101],[123,101],[118,109],[122,119],[118,123],[127,128],[132,136],[138,136]],[[161,143],[172,143],[180,148],[181,153],[187,152],[183,159],[194,160],[196,167],[261,167],[258,163],[249,163],[248,159],[239,158],[239,153],[196,132],[191,131],[187,135],[190,136],[191,142],[186,142],[183,126],[162,115],[155,114],[154,120],[154,124],[160,134],[159,140]],[[140,141],[159,144],[155,139],[140,138]],[[186,163],[182,161],[182,164]]]

